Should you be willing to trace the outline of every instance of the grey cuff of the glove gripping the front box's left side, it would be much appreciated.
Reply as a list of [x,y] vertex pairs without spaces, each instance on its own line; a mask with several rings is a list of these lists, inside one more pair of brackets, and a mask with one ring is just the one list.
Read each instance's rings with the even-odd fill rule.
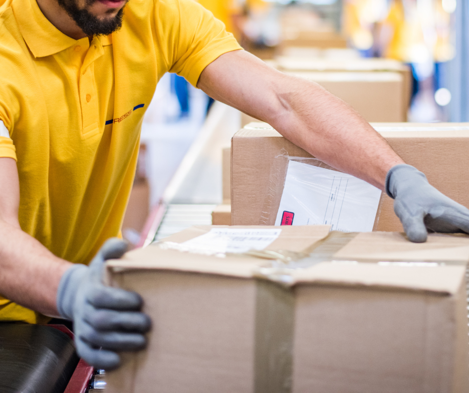
[[57,289],[57,310],[62,318],[73,320],[73,303],[82,278],[88,271],[88,267],[81,263],[70,266],[62,278]]

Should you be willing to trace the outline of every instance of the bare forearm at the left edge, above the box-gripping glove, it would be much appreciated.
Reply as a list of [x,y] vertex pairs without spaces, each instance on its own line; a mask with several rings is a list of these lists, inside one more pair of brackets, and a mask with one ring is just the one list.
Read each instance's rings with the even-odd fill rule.
[[0,293],[22,306],[58,315],[56,293],[71,264],[16,225],[0,220]]

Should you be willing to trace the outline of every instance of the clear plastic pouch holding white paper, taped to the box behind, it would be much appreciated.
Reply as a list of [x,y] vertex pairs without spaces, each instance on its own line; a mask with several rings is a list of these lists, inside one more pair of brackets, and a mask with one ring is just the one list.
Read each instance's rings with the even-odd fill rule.
[[331,225],[331,230],[376,229],[381,191],[329,165],[286,151],[272,163],[261,225]]

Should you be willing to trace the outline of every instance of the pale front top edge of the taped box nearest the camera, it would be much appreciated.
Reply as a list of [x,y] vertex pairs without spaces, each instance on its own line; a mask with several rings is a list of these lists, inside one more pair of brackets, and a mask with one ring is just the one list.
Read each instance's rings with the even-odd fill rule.
[[188,261],[174,262],[181,257],[181,252],[177,250],[159,250],[159,255],[164,260],[158,263],[143,261],[132,266],[129,261],[110,260],[106,265],[111,275],[112,272],[156,269],[246,279],[261,277],[287,286],[332,284],[388,287],[451,295],[458,291],[465,274],[464,266],[381,266],[372,263],[321,262],[309,268],[295,270],[269,268],[265,260],[259,260],[259,263],[207,261],[209,257],[197,254],[191,254]]

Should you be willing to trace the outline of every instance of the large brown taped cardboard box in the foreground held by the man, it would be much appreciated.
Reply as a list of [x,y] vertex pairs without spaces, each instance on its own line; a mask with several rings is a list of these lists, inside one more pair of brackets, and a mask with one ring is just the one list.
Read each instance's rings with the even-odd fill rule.
[[[180,247],[211,228],[167,241]],[[468,392],[468,237],[415,244],[373,232],[366,244],[389,240],[411,258],[317,263],[344,244],[345,257],[367,249],[360,235],[325,225],[281,230],[266,250],[312,251],[294,269],[158,244],[109,261],[110,283],[142,295],[153,330],[145,351],[123,354],[106,375],[107,392]],[[465,252],[453,264],[409,262],[419,253],[435,260],[442,248],[451,257],[455,244]]]

